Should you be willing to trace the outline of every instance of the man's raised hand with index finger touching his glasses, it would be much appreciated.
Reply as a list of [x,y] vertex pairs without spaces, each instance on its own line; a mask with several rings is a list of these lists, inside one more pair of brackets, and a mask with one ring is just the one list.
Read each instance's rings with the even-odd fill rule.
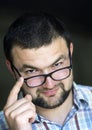
[[35,121],[36,109],[31,102],[31,95],[18,100],[18,93],[23,85],[21,77],[10,92],[4,107],[5,118],[10,130],[32,130],[31,123]]

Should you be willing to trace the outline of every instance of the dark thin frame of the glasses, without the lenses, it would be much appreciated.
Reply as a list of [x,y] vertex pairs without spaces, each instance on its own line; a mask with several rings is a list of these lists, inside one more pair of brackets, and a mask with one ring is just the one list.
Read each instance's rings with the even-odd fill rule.
[[[71,58],[70,50],[69,50],[69,59],[70,59],[70,66],[66,66],[66,67],[64,67],[64,68],[54,70],[54,71],[52,71],[52,72],[50,72],[50,73],[48,73],[48,74],[41,74],[41,75],[35,75],[35,76],[28,77],[28,78],[24,78],[25,84],[26,84],[29,88],[35,88],[35,87],[39,87],[39,86],[43,85],[43,84],[46,82],[47,77],[50,77],[50,78],[53,79],[54,81],[60,81],[60,80],[64,80],[64,79],[68,78],[68,77],[70,76],[70,74],[71,74],[71,69],[72,69],[72,58]],[[18,69],[14,66],[14,64],[13,64],[12,62],[11,62],[11,68],[12,68],[12,70],[13,70],[14,73],[15,73],[15,71],[16,71],[17,74],[18,74],[20,77],[22,77],[22,75],[20,74],[20,72],[19,72]],[[69,69],[69,75],[66,76],[65,78],[56,80],[56,79],[54,79],[54,78],[51,76],[51,75],[52,75],[53,73],[55,73],[56,71],[63,70],[63,69]],[[15,71],[14,71],[14,70],[15,70]],[[27,80],[28,80],[28,79],[34,78],[34,77],[39,77],[39,76],[44,76],[44,82],[42,82],[40,85],[33,86],[33,87],[28,85],[28,83],[27,83]]]

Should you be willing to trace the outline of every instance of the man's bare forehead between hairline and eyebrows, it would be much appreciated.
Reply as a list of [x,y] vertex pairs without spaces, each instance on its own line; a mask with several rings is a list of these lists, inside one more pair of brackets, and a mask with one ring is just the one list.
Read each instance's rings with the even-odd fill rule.
[[18,46],[12,49],[14,65],[22,66],[23,64],[32,65],[42,68],[52,64],[60,55],[68,52],[66,41],[63,38],[57,38],[47,46],[38,49],[21,49]]

